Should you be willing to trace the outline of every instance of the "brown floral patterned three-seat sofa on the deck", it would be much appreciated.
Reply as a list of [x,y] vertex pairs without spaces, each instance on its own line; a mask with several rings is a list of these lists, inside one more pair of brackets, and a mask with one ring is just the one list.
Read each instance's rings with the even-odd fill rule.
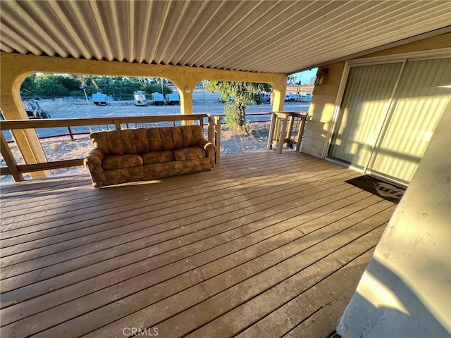
[[211,170],[216,146],[200,125],[92,132],[84,164],[94,187]]

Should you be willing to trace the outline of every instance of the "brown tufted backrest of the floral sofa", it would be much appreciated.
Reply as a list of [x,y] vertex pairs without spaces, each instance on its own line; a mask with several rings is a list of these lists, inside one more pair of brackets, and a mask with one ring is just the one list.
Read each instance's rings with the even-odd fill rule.
[[109,130],[90,134],[95,148],[109,155],[145,154],[197,146],[204,138],[200,125]]

